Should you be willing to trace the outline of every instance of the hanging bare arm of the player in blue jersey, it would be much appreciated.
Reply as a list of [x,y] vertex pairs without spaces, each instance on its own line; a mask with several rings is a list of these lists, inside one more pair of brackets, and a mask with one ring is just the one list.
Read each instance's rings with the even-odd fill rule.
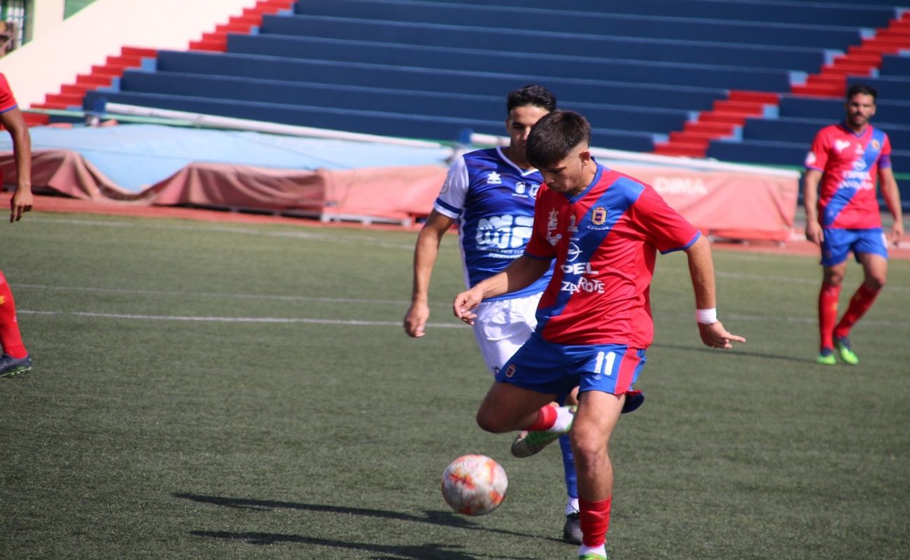
[[454,222],[454,219],[430,211],[423,229],[417,236],[414,247],[414,280],[410,291],[410,308],[404,316],[404,331],[408,336],[423,336],[430,319],[430,276],[440,252],[440,241]]

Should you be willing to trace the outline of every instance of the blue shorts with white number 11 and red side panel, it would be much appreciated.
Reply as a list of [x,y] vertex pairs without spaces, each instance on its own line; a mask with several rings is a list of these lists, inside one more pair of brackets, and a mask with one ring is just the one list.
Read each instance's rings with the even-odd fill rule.
[[638,380],[644,354],[622,344],[555,344],[535,332],[502,366],[496,381],[555,394],[557,402],[565,402],[575,387],[623,394]]

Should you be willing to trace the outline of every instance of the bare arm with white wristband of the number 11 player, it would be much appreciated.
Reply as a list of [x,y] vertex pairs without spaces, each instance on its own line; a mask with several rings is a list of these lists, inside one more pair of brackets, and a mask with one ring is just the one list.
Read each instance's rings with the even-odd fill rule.
[[[714,283],[714,262],[711,244],[704,236],[697,239],[688,249],[689,275],[695,290],[695,307],[699,310],[698,333],[705,346],[731,349],[731,342],[745,342],[741,336],[728,332],[721,321],[717,321],[717,288]],[[704,315],[704,316],[703,316]]]

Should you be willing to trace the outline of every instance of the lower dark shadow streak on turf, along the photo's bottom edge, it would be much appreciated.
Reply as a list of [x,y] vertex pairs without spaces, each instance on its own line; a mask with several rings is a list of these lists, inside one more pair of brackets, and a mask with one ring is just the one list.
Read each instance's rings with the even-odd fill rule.
[[[400,560],[400,558],[413,558],[413,560],[478,560],[478,558],[490,558],[491,556],[475,556],[461,552],[460,545],[371,545],[368,543],[353,543],[348,541],[339,541],[333,539],[320,539],[310,536],[300,535],[278,535],[275,533],[228,533],[227,531],[191,531],[190,535],[207,536],[209,538],[229,539],[237,541],[246,541],[250,545],[276,545],[278,543],[298,543],[300,545],[319,545],[332,546],[335,548],[350,548],[352,550],[369,550],[379,554],[374,556],[375,560]],[[497,558],[509,558],[510,560],[520,560],[517,557],[500,556]]]

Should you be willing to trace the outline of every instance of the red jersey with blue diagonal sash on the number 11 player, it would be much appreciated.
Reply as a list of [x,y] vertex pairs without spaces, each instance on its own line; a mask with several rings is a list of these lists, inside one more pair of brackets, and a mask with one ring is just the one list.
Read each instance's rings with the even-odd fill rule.
[[537,331],[559,344],[647,348],[656,253],[686,249],[700,235],[651,186],[601,165],[575,197],[541,186],[525,254],[556,266]]

